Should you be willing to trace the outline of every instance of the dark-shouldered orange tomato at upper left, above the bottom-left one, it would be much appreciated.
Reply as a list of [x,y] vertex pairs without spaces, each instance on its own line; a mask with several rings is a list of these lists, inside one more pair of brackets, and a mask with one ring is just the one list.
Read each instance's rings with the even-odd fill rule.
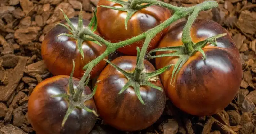
[[[78,26],[78,18],[71,18],[70,21],[75,27]],[[61,23],[66,24],[66,20],[61,21]],[[83,20],[84,27],[88,26],[89,23],[88,20]],[[84,41],[82,44],[84,59],[82,59],[77,41],[65,35],[57,37],[61,33],[71,34],[64,26],[57,25],[45,35],[41,47],[44,63],[53,75],[70,75],[73,68],[72,59],[74,59],[75,71],[73,76],[81,78],[84,74],[83,67],[100,56],[106,47],[101,47],[92,41]],[[98,33],[96,32],[96,34]],[[91,77],[95,77],[105,65],[104,60],[97,64],[91,71]]]

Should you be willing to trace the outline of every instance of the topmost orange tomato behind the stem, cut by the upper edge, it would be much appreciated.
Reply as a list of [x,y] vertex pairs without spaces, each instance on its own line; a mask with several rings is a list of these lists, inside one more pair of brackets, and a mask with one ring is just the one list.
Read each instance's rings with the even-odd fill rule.
[[[105,5],[111,7],[122,7],[118,3],[114,3],[108,0],[100,0],[98,6]],[[105,7],[98,7],[97,19],[98,19],[98,31],[106,40],[116,43],[124,41],[140,35],[145,31],[156,27],[160,23],[171,17],[171,12],[160,6],[150,6],[136,12],[128,21],[127,30],[125,29],[125,18],[127,12],[113,10]],[[168,32],[168,28],[165,28],[162,32],[158,33],[150,42],[148,51],[157,47],[157,43],[162,38],[163,34]],[[144,40],[137,41],[126,47],[119,48],[118,51],[126,55],[136,56],[136,47],[142,48]]]

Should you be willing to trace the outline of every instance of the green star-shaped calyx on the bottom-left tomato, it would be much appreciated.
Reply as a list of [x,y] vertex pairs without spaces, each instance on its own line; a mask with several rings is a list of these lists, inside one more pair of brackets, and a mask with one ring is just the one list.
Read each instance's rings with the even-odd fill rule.
[[[73,69],[71,72],[71,75],[69,77],[69,93],[66,94],[58,94],[58,95],[53,95],[52,97],[62,97],[63,99],[65,99],[68,102],[68,110],[62,120],[61,126],[63,127],[68,119],[68,116],[72,113],[73,110],[75,110],[76,108],[78,109],[84,109],[87,112],[92,112],[95,116],[99,116],[95,110],[92,110],[90,108],[87,108],[84,104],[84,102],[86,102],[87,100],[92,99],[92,97],[94,96],[96,89],[97,89],[97,85],[94,87],[93,92],[89,95],[77,95],[77,93],[79,93],[79,91],[81,91],[81,89],[79,90],[79,88],[83,88],[82,91],[84,91],[84,87],[79,87],[78,89],[75,90],[74,85],[73,85],[73,74],[74,74],[74,69],[75,69],[75,62],[73,60]],[[88,82],[86,82],[86,85],[88,84]]]

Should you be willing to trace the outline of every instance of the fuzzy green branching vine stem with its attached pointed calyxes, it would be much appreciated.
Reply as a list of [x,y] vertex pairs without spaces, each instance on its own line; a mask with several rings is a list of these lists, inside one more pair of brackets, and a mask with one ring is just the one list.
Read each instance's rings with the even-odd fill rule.
[[[212,42],[214,40],[216,40],[216,38],[224,36],[224,35],[217,35],[216,37],[212,37],[209,39],[206,39],[204,41],[201,41],[199,43],[194,44],[191,40],[190,37],[190,28],[194,22],[194,20],[196,19],[198,13],[200,11],[203,10],[209,10],[213,7],[217,7],[218,3],[216,1],[204,1],[201,4],[197,4],[195,6],[192,7],[176,7],[173,6],[171,4],[165,3],[165,2],[161,2],[158,0],[129,0],[129,1],[122,1],[122,0],[109,0],[112,2],[116,2],[119,3],[121,5],[123,5],[123,7],[121,8],[113,8],[113,7],[106,7],[103,6],[105,8],[112,8],[115,10],[121,10],[121,11],[127,11],[127,17],[126,17],[126,21],[125,21],[125,26],[127,26],[127,21],[130,19],[130,17],[138,10],[151,6],[151,5],[159,5],[165,8],[168,8],[170,10],[174,11],[174,14],[172,15],[172,17],[170,17],[169,19],[165,20],[164,22],[162,22],[161,24],[159,24],[158,26],[149,29],[148,31],[133,37],[131,39],[125,40],[125,41],[121,41],[118,43],[111,43],[106,41],[105,39],[103,39],[102,37],[100,37],[99,35],[95,34],[94,31],[97,28],[97,18],[96,18],[96,14],[95,12],[97,11],[97,9],[94,12],[94,16],[91,20],[91,23],[89,24],[88,27],[82,27],[82,13],[80,13],[79,15],[79,24],[78,24],[78,28],[74,28],[74,26],[71,24],[70,20],[68,19],[67,15],[63,12],[63,15],[69,25],[70,28],[68,28],[67,26],[65,26],[70,33],[72,34],[65,34],[69,37],[73,37],[74,39],[76,39],[79,44],[78,47],[80,47],[81,43],[84,40],[90,40],[90,41],[94,41],[94,42],[98,42],[98,44],[104,44],[106,46],[106,50],[103,52],[103,54],[101,54],[100,56],[98,56],[97,58],[95,58],[94,60],[92,60],[90,63],[88,63],[87,65],[84,66],[84,70],[86,70],[84,72],[83,77],[80,80],[80,83],[77,87],[76,91],[72,91],[72,96],[69,97],[71,98],[71,100],[74,100],[74,102],[81,102],[84,101],[84,97],[82,96],[83,90],[84,90],[84,86],[88,84],[89,79],[90,79],[90,72],[92,71],[92,68],[94,66],[96,66],[100,61],[102,61],[103,59],[105,59],[105,57],[107,57],[109,54],[115,52],[118,48],[130,45],[136,41],[140,41],[142,39],[145,39],[143,47],[141,48],[141,50],[139,50],[139,48],[137,48],[138,51],[138,55],[137,55],[137,63],[136,63],[136,68],[135,71],[133,73],[127,73],[123,70],[121,70],[120,68],[118,68],[116,65],[112,64],[110,61],[108,61],[107,59],[105,59],[106,62],[108,62],[109,64],[111,64],[112,66],[114,66],[116,69],[118,69],[120,72],[122,72],[128,79],[128,83],[124,86],[124,89],[122,89],[122,91],[125,90],[125,88],[128,88],[129,86],[132,86],[135,90],[136,95],[138,96],[139,100],[141,101],[142,104],[144,104],[143,100],[141,99],[140,96],[140,92],[139,92],[139,87],[140,85],[147,85],[147,86],[151,86],[153,88],[156,88],[158,90],[162,90],[160,87],[156,87],[153,84],[150,83],[150,80],[154,79],[156,76],[158,76],[159,74],[163,73],[166,69],[168,69],[170,66],[172,65],[168,65],[164,68],[161,68],[159,70],[156,70],[154,72],[151,73],[142,73],[142,71],[144,70],[144,58],[146,56],[147,53],[147,48],[149,45],[149,42],[153,39],[153,37],[161,32],[163,29],[167,28],[171,23],[173,23],[174,21],[184,18],[186,16],[189,15],[189,19],[188,22],[184,28],[184,32],[182,34],[182,41],[184,43],[183,46],[179,46],[179,47],[170,47],[170,48],[162,48],[162,49],[155,49],[152,50],[151,52],[149,52],[149,54],[151,54],[152,52],[156,52],[156,51],[163,51],[163,50],[175,50],[175,53],[170,53],[169,55],[164,55],[164,56],[179,56],[179,61],[177,62],[177,64],[175,64],[174,70],[175,71],[179,71],[180,64],[184,64],[191,55],[193,55],[195,53],[195,51],[200,51],[201,52],[201,48],[203,48],[207,42]],[[142,3],[148,3],[147,5],[141,5]],[[82,8],[81,8],[82,11]],[[186,50],[186,51],[184,51]],[[83,53],[81,52],[81,54],[83,55]],[[154,58],[157,56],[148,56],[149,58]],[[161,57],[161,56],[159,56]],[[172,76],[173,77],[173,76]],[[141,82],[141,80],[143,82]],[[95,88],[96,89],[96,88]],[[95,92],[93,92],[95,93]],[[65,96],[65,95],[63,95]],[[91,95],[93,96],[93,95]],[[90,97],[91,97],[90,96]],[[85,97],[86,98],[86,97]],[[88,98],[88,97],[87,97]],[[83,109],[86,109],[84,106],[80,107]],[[90,111],[90,109],[87,108],[87,111]],[[68,113],[67,113],[68,114]]]

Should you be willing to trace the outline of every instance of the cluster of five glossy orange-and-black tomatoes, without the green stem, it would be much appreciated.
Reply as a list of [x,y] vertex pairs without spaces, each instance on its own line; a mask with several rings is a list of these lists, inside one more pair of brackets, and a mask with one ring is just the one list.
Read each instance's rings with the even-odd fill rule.
[[[100,0],[98,6],[100,5],[121,6],[108,0]],[[156,27],[169,19],[171,13],[156,5],[141,9],[129,19],[127,30],[124,25],[126,16],[127,13],[123,11],[98,7],[98,27],[95,33],[110,42],[124,41]],[[71,18],[70,21],[75,27],[78,26],[78,18]],[[66,21],[61,23],[67,24]],[[88,20],[83,20],[84,27],[88,24]],[[175,26],[165,28],[151,40],[147,51],[182,45],[181,35],[185,24],[186,21],[182,21]],[[66,35],[58,36],[61,33],[70,32],[64,26],[57,25],[46,34],[42,43],[43,60],[48,70],[55,76],[45,79],[34,89],[28,103],[28,118],[37,134],[88,134],[96,123],[96,116],[84,109],[76,108],[61,128],[69,102],[61,97],[51,96],[69,94],[68,82],[73,59],[75,61],[73,83],[76,88],[79,78],[84,74],[83,67],[100,56],[106,50],[106,46],[100,46],[93,41],[84,41],[82,44],[84,58],[82,58],[77,41]],[[194,43],[221,33],[227,31],[211,20],[198,19],[191,28],[191,38]],[[132,73],[136,66],[136,47],[141,48],[143,42],[144,40],[141,40],[119,48],[118,51],[125,56],[117,57],[112,63]],[[191,56],[182,65],[174,82],[173,66],[160,74],[160,79],[151,82],[152,85],[162,87],[164,92],[140,85],[139,92],[145,105],[137,98],[132,87],[119,94],[128,78],[102,60],[91,71],[92,78],[97,78],[94,98],[85,101],[84,104],[97,111],[104,123],[123,131],[142,130],[155,123],[164,111],[166,95],[176,107],[189,114],[199,116],[215,114],[232,101],[242,78],[239,52],[230,35],[218,38],[216,44],[217,46],[208,44],[203,48],[207,55],[206,60],[202,58],[200,52]],[[156,55],[170,52],[156,52]],[[144,72],[153,72],[175,64],[177,60],[178,57],[175,56],[160,57],[155,59],[154,65],[144,60]],[[90,88],[85,86],[83,94],[90,93]]]

